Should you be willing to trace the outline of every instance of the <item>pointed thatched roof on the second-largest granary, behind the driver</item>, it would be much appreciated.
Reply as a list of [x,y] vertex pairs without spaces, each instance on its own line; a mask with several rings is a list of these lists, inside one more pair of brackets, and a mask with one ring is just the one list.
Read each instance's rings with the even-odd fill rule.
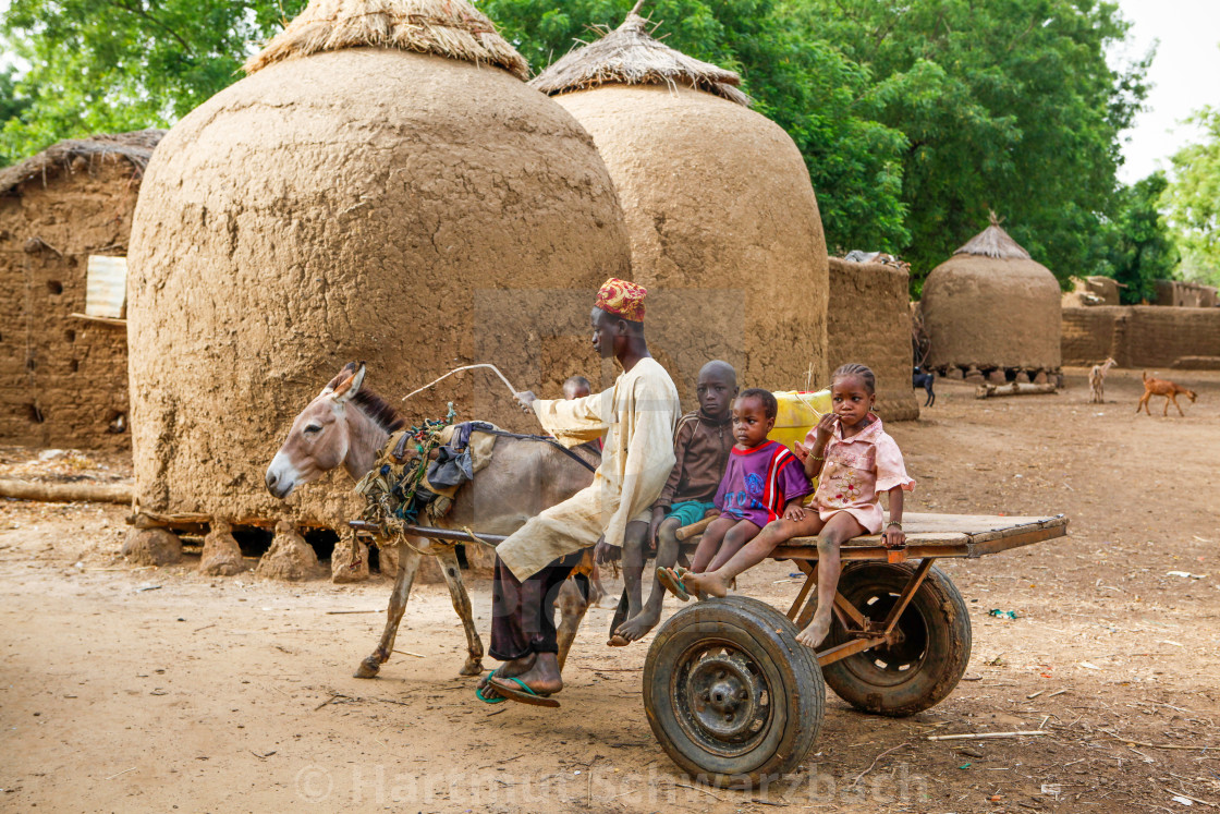
[[[603,84],[683,84],[749,106],[742,77],[665,45],[651,35],[636,4],[621,26],[572,49],[529,84],[549,96]],[[655,28],[653,28],[655,31]]]

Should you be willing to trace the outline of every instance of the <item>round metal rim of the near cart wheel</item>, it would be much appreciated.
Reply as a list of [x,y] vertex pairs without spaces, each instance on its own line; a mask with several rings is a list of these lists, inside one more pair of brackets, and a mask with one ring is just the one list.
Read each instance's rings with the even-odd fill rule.
[[732,642],[703,639],[675,663],[670,680],[683,733],[712,754],[733,758],[761,743],[773,716],[773,690],[755,659]]

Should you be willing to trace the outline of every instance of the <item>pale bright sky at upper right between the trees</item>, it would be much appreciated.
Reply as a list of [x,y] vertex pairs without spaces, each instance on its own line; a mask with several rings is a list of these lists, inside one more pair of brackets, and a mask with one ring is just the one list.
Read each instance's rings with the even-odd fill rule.
[[1220,0],[1119,0],[1119,7],[1133,26],[1125,51],[1111,59],[1133,59],[1160,40],[1148,72],[1149,110],[1124,133],[1119,179],[1132,183],[1168,170],[1169,156],[1198,138],[1181,120],[1204,105],[1220,109]]

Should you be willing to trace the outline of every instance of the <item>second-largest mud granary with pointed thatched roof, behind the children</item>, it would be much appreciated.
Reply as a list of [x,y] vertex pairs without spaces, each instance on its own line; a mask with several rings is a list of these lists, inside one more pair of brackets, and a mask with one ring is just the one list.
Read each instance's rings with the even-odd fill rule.
[[[826,243],[809,171],[741,77],[651,37],[633,10],[531,84],[592,133],[649,287],[649,344],[693,405],[699,366],[743,386],[826,377]],[[747,289],[743,281],[749,281]]]

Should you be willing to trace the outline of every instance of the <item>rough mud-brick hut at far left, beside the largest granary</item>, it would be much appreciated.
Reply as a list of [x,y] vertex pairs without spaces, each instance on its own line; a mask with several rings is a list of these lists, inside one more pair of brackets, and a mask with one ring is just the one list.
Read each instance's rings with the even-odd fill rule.
[[4,443],[131,447],[127,331],[112,319],[122,301],[112,317],[85,319],[95,310],[88,268],[90,256],[127,253],[140,179],[161,135],[60,142],[0,170]]

